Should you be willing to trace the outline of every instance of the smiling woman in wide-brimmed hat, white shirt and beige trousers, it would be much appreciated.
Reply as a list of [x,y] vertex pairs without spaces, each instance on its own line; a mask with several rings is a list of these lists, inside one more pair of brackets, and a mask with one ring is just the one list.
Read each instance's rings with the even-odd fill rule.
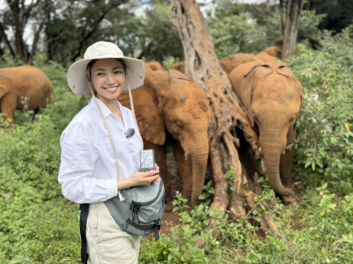
[[158,181],[157,164],[156,170],[139,172],[142,139],[136,118],[118,101],[128,85],[137,88],[143,80],[143,62],[124,57],[119,47],[109,42],[91,45],[84,59],[73,63],[68,71],[72,92],[92,94],[89,104],[62,132],[58,177],[67,199],[90,204],[86,224],[88,263],[137,263],[139,235],[122,230],[103,201],[121,196],[120,189]]

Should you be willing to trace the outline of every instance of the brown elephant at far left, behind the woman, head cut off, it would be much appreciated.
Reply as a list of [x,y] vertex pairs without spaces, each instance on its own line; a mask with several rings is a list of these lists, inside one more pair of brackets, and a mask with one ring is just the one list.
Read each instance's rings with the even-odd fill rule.
[[52,82],[40,69],[32,65],[0,68],[0,111],[13,119],[16,109],[46,107],[53,90]]

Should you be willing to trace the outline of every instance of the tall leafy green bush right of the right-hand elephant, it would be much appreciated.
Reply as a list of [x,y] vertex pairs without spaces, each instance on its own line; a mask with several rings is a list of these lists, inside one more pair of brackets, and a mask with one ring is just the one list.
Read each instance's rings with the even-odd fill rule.
[[[286,61],[303,83],[295,159],[321,175],[315,177],[317,185],[327,181],[340,194],[352,191],[352,29],[335,36],[326,32],[321,51],[298,45],[298,55]],[[309,172],[304,175],[312,181]]]

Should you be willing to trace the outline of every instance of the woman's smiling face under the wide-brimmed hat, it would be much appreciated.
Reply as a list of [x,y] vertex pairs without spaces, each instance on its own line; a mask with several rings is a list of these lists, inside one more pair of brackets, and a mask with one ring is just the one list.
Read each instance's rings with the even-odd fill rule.
[[98,99],[117,99],[125,88],[124,67],[115,58],[98,59],[92,65],[91,80]]

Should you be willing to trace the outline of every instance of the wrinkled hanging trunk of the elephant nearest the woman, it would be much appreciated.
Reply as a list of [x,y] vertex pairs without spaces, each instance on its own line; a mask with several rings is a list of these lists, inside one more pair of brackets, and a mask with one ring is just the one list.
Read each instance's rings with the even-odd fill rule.
[[[208,142],[208,141],[207,141]],[[192,194],[191,206],[200,203],[198,197],[202,194],[202,188],[205,182],[205,174],[208,161],[209,145],[202,147],[189,147],[189,153],[192,160]]]

